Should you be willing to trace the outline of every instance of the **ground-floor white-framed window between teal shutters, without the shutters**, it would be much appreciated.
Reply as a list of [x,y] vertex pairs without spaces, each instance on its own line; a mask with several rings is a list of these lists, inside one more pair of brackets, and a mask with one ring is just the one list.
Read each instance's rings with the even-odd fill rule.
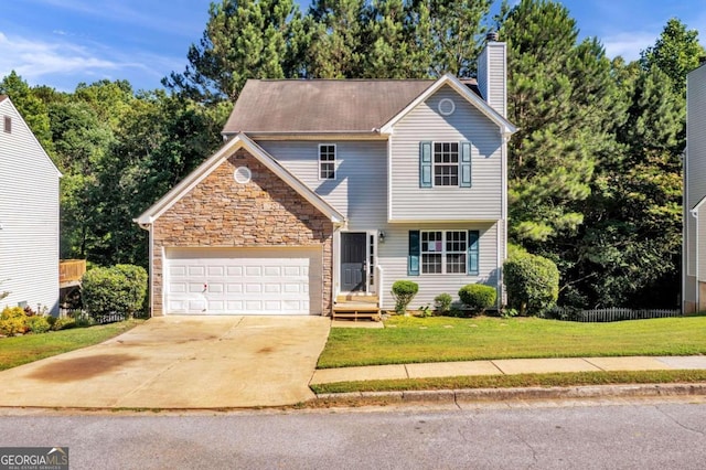
[[422,231],[421,274],[466,274],[467,231]]

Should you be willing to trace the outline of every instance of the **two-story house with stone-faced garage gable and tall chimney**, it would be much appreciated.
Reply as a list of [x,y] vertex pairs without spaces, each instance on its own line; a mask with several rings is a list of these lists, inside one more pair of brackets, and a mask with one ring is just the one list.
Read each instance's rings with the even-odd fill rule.
[[248,81],[224,146],[136,220],[152,314],[393,309],[399,279],[422,305],[502,291],[505,51],[490,36],[478,82]]

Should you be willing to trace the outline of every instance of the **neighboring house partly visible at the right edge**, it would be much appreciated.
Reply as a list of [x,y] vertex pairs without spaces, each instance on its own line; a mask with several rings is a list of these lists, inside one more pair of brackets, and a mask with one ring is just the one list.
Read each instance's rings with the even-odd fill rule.
[[706,310],[706,64],[686,75],[682,306]]

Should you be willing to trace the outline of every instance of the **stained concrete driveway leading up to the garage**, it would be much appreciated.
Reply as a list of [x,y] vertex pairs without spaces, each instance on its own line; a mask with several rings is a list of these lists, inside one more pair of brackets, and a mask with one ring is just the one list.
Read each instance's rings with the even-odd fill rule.
[[0,372],[0,406],[229,408],[313,398],[324,317],[161,317]]

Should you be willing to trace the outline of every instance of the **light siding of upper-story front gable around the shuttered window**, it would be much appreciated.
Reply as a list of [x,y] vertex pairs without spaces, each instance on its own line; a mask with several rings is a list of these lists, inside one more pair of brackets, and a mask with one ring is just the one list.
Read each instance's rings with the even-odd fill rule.
[[[451,116],[438,104],[450,98]],[[395,221],[494,221],[502,217],[502,139],[488,117],[449,86],[409,111],[394,128],[391,214]],[[471,188],[419,188],[419,142],[471,142]]]

